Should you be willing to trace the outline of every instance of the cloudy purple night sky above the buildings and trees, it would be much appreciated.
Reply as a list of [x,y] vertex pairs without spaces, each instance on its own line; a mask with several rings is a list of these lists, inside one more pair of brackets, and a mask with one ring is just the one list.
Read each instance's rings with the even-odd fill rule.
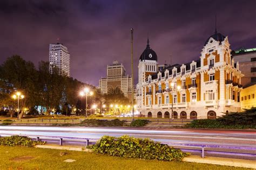
[[[49,59],[49,44],[63,43],[71,76],[98,85],[106,65],[119,60],[131,74],[130,28],[134,28],[134,74],[150,46],[159,64],[199,59],[205,40],[217,31],[231,49],[256,47],[256,1],[26,1],[0,0],[0,64],[20,55],[35,65]],[[57,40],[59,38],[59,40]]]

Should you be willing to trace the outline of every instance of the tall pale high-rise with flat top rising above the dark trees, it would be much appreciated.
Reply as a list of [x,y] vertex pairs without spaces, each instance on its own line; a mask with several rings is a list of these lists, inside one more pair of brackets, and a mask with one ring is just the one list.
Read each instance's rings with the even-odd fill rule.
[[58,74],[70,77],[70,54],[63,44],[50,44],[49,46],[50,72],[56,68]]

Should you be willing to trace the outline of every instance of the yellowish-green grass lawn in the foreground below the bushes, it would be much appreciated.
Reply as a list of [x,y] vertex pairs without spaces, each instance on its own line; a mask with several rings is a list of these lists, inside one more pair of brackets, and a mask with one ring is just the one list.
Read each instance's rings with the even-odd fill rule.
[[[57,149],[0,146],[0,169],[245,169],[190,162],[164,162]],[[20,158],[28,157],[28,159]],[[74,159],[75,162],[63,162]]]

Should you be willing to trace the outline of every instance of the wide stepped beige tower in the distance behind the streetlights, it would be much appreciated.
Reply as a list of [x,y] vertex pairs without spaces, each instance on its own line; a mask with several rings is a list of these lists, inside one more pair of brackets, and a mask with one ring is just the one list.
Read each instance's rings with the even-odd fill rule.
[[102,94],[113,93],[120,90],[125,97],[132,99],[132,80],[125,75],[123,64],[114,61],[112,65],[107,65],[107,77],[99,80],[99,89]]

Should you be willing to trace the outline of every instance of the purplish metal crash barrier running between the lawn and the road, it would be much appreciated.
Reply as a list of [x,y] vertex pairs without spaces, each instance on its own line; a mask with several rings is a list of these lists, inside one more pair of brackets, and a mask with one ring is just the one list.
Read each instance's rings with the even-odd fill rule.
[[[0,137],[11,136],[10,134],[0,134]],[[29,137],[36,141],[55,141],[59,142],[62,146],[63,142],[72,142],[75,144],[82,144],[84,146],[95,144],[98,138],[75,138],[75,137],[63,137],[63,136],[48,136],[48,135],[22,135],[24,137]],[[216,157],[228,157],[228,158],[239,158],[239,159],[249,159],[256,160],[256,147],[248,146],[233,146],[233,145],[203,145],[198,144],[196,146],[191,146],[191,144],[180,144],[177,143],[163,143],[169,145],[170,147],[181,149],[183,152],[189,152],[191,154],[201,155],[204,158],[206,155],[211,155]]]

